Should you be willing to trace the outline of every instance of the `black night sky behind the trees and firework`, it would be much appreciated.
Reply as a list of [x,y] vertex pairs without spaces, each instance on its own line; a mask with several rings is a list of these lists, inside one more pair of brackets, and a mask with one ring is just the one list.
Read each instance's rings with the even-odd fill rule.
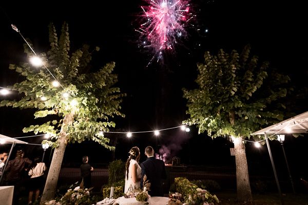
[[[53,22],[60,32],[62,23],[66,21],[72,48],[79,48],[83,43],[101,48],[93,55],[93,69],[115,61],[118,86],[127,93],[122,104],[126,117],[114,119],[117,129],[148,131],[181,125],[182,120],[187,118],[181,89],[196,87],[196,64],[203,61],[205,51],[212,54],[217,54],[221,48],[226,52],[232,49],[241,51],[249,43],[252,53],[258,55],[260,61],[269,60],[271,67],[289,75],[292,85],[299,90],[306,86],[308,77],[306,7],[303,2],[268,2],[191,1],[192,10],[197,15],[194,26],[187,28],[188,35],[172,53],[166,53],[164,60],[159,63],[153,61],[148,67],[152,53],[138,47],[139,34],[134,31],[140,24],[137,19],[142,11],[140,5],[145,4],[142,1],[0,3],[0,86],[6,87],[21,80],[8,66],[9,63],[26,60],[23,39],[11,29],[11,24],[32,41],[36,52],[41,52],[49,46],[48,24]],[[208,32],[205,32],[206,29]],[[14,97],[16,95],[0,96],[0,100]],[[307,111],[305,104],[293,106],[296,114]],[[0,113],[1,134],[10,137],[32,135],[22,133],[24,127],[35,123],[31,110],[0,108]],[[151,145],[156,149],[166,146],[171,152],[170,157],[180,156],[181,162],[188,165],[232,168],[235,165],[234,157],[229,153],[232,142],[223,138],[212,140],[206,134],[198,135],[195,127],[191,127],[190,133],[179,129],[164,131],[159,139],[152,133],[136,134],[131,139],[125,135],[107,136],[112,139],[118,136],[115,157],[123,160],[132,146],[138,146],[143,153],[144,148]],[[42,138],[24,140],[40,144]],[[272,144],[275,163],[280,170],[286,170],[279,143]],[[300,160],[308,157],[307,145],[307,136],[296,139],[286,136],[286,154],[290,158],[291,171],[298,177],[308,177],[308,170],[303,168]],[[23,148],[31,157],[43,153],[39,146]],[[246,152],[251,172],[271,173],[266,147],[257,150],[248,143]],[[49,154],[50,149],[47,151]],[[111,159],[111,153],[106,149],[84,142],[67,147],[64,163],[79,166],[83,155],[88,155],[90,162],[97,166]],[[144,159],[143,156],[141,161]]]

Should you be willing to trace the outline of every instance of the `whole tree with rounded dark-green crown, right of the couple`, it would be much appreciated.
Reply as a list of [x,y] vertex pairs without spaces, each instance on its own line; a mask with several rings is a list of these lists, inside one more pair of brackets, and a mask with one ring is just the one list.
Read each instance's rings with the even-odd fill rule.
[[286,96],[284,85],[290,80],[274,70],[268,72],[268,62],[259,65],[257,56],[249,57],[250,49],[245,46],[241,54],[220,50],[217,56],[205,52],[204,63],[198,64],[198,88],[183,89],[190,115],[185,123],[213,138],[233,138],[239,201],[252,200],[243,139],[282,120],[285,106],[279,99]]

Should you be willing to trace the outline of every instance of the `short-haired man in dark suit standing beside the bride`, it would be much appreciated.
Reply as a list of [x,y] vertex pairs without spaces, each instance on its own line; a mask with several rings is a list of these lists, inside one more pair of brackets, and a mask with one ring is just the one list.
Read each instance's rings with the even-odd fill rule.
[[145,148],[147,159],[141,163],[140,187],[143,188],[143,177],[146,175],[151,183],[150,196],[164,196],[162,179],[166,179],[165,163],[154,157],[154,150],[148,146]]

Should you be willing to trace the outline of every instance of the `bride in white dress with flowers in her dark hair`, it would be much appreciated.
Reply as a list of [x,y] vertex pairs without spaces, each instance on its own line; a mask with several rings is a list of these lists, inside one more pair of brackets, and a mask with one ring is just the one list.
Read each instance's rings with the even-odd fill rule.
[[141,179],[141,168],[138,164],[140,159],[139,148],[133,147],[128,153],[129,157],[125,164],[125,194],[127,194],[127,192],[133,192],[135,189],[140,188]]

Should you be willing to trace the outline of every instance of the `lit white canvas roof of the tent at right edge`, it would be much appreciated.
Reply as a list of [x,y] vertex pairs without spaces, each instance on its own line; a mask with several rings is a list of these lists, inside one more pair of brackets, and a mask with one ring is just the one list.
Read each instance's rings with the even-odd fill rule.
[[[291,129],[291,131],[290,131]],[[308,133],[308,111],[296,115],[275,125],[269,126],[252,135],[266,134],[290,134],[290,133]]]

